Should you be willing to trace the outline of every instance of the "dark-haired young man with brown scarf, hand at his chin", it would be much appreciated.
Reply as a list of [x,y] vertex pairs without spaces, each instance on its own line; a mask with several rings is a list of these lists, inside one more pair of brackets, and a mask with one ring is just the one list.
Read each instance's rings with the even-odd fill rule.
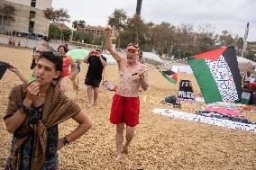
[[[35,67],[35,80],[14,86],[5,115],[6,129],[14,134],[5,170],[58,169],[57,150],[91,128],[78,104],[59,91],[63,61],[58,53],[43,51]],[[69,118],[78,127],[59,138],[58,124]]]

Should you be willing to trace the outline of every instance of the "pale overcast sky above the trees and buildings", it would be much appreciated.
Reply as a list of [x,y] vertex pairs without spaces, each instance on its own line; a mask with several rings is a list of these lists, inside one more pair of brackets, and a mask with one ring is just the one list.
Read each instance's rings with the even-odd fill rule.
[[[123,9],[128,16],[135,13],[137,0],[52,0],[53,8],[66,8],[71,22],[85,20],[89,25],[105,26],[114,9]],[[209,23],[211,31],[230,31],[243,37],[250,22],[249,41],[256,41],[256,0],[142,0],[144,22]],[[71,24],[69,24],[70,26]]]

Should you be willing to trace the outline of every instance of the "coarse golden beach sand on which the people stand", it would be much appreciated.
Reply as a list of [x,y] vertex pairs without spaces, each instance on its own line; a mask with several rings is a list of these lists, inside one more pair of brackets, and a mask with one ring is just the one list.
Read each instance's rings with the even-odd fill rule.
[[[14,49],[0,47],[0,60],[19,67],[25,76],[32,73],[32,49]],[[116,65],[108,65],[105,79],[117,85],[118,70]],[[72,91],[70,98],[78,103],[93,122],[93,127],[82,138],[59,151],[59,169],[121,169],[132,170],[142,164],[144,170],[169,169],[220,169],[220,170],[255,170],[256,169],[256,134],[244,130],[231,130],[199,122],[183,121],[154,114],[154,108],[171,108],[160,103],[167,95],[178,93],[178,84],[171,85],[160,76],[158,70],[149,72],[150,87],[140,94],[140,124],[136,127],[128,155],[120,163],[115,157],[115,126],[108,121],[114,92],[100,86],[98,103],[88,108],[87,86],[84,77],[87,65],[82,65],[79,74],[79,91]],[[179,79],[192,81],[196,95],[200,94],[193,75],[178,74]],[[17,76],[6,71],[0,80],[0,168],[5,167],[11,146],[12,135],[5,130],[5,109],[10,90],[14,85],[22,84]],[[181,110],[196,112],[204,103],[184,103]],[[179,111],[181,111],[179,110]],[[246,115],[256,121],[256,113]],[[76,122],[69,120],[59,124],[59,137],[63,137],[76,127]]]

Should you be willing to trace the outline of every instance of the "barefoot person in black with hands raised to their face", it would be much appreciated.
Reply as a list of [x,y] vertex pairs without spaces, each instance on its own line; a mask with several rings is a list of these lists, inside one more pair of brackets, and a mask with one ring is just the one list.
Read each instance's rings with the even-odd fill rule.
[[89,106],[96,105],[99,94],[98,87],[102,79],[103,69],[106,67],[106,58],[101,55],[101,52],[100,49],[93,50],[84,59],[84,63],[89,64],[85,79]]

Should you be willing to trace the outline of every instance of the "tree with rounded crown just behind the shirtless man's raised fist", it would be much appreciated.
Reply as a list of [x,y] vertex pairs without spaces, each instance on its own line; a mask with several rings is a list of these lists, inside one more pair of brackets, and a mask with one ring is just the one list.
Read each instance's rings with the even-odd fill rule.
[[127,15],[123,9],[114,9],[114,13],[108,17],[108,24],[118,31],[117,49],[120,49],[120,34],[127,22]]

